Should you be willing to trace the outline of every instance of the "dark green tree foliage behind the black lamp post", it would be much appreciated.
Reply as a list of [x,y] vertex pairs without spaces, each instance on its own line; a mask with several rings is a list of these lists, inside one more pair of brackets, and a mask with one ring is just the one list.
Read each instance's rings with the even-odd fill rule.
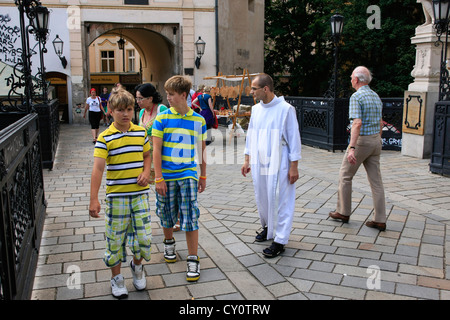
[[[381,28],[369,29],[370,5],[381,9]],[[351,90],[350,75],[358,65],[374,75],[380,96],[401,97],[413,82],[411,71],[415,28],[423,23],[416,0],[266,0],[265,72],[284,95],[323,96],[334,58],[330,17],[344,16],[339,47],[341,89]]]

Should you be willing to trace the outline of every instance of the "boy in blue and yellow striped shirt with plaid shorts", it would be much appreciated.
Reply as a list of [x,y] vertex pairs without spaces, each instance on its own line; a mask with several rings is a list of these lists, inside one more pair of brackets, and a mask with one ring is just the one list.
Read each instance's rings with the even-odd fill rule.
[[170,109],[156,116],[152,136],[156,215],[164,232],[164,259],[168,263],[177,259],[173,226],[180,213],[180,228],[186,231],[188,247],[186,280],[193,282],[200,278],[197,192],[203,192],[206,186],[206,123],[187,104],[191,85],[182,76],[166,81],[164,89]]

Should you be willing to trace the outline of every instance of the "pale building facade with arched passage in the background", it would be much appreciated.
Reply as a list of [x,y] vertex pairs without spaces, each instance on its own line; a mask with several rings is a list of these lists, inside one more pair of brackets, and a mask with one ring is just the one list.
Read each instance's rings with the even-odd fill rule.
[[[91,87],[121,82],[131,90],[136,84],[151,82],[163,93],[164,82],[176,74],[190,76],[196,87],[215,85],[204,77],[218,72],[264,71],[263,0],[41,3],[50,9],[48,52],[44,54],[47,78],[66,106],[70,123],[86,121],[81,110]],[[0,42],[5,43],[9,36],[4,31],[19,26],[18,11],[12,1],[0,0],[0,12]],[[64,42],[65,68],[52,48],[56,35]],[[206,47],[197,68],[195,41],[199,37]],[[124,50],[118,49],[120,38],[125,41]],[[11,46],[18,48],[20,41],[3,48],[0,60],[14,64]]]

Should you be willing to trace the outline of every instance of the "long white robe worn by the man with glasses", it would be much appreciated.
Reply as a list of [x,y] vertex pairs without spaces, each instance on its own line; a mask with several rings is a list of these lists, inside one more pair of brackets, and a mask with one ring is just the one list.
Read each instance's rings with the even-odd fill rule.
[[301,159],[301,141],[293,106],[276,97],[253,106],[245,154],[250,156],[255,198],[267,238],[287,244],[294,218],[295,184],[288,179],[291,161]]

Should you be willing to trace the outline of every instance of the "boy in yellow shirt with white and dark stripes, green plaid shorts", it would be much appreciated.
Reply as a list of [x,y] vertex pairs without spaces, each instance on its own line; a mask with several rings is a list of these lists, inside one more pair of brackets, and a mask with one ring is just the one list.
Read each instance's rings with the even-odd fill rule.
[[114,89],[109,98],[114,122],[97,139],[91,176],[89,214],[99,218],[100,189],[106,166],[106,251],[105,264],[111,268],[111,291],[114,297],[128,295],[120,274],[126,262],[126,241],[133,259],[130,261],[133,284],[146,287],[142,260],[151,256],[151,219],[148,197],[150,181],[150,144],[147,131],[132,123],[134,97],[123,89]]

